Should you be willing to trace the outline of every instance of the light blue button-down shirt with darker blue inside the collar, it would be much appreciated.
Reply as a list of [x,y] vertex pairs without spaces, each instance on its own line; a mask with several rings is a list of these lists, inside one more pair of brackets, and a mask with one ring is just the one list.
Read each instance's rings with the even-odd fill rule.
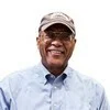
[[38,64],[0,82],[0,110],[110,110],[105,89],[70,67],[56,77]]

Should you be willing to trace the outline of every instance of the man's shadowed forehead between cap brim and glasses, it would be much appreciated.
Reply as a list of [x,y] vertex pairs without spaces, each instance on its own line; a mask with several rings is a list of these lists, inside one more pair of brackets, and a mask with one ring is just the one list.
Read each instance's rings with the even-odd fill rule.
[[72,31],[66,25],[61,24],[61,23],[53,24],[48,26],[45,31],[64,31],[64,32],[72,33]]

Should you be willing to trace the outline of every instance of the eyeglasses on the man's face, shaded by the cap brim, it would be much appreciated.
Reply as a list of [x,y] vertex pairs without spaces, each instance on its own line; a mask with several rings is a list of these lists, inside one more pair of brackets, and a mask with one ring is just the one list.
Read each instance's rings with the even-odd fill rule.
[[47,40],[61,40],[61,41],[72,41],[75,35],[69,32],[54,32],[54,31],[46,31],[45,38]]

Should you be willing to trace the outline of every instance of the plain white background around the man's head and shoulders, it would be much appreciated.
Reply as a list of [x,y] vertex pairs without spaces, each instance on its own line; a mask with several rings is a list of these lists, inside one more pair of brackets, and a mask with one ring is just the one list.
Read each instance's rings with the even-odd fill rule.
[[77,44],[70,66],[98,80],[110,99],[109,0],[0,0],[0,80],[40,62],[37,28],[53,11],[75,20]]

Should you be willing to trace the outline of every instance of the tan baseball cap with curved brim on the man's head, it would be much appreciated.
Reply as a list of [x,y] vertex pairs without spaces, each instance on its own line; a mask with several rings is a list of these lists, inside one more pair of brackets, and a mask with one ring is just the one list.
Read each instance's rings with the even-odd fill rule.
[[45,31],[48,26],[62,23],[66,25],[76,35],[74,20],[63,12],[53,12],[44,15],[41,20],[38,31]]

